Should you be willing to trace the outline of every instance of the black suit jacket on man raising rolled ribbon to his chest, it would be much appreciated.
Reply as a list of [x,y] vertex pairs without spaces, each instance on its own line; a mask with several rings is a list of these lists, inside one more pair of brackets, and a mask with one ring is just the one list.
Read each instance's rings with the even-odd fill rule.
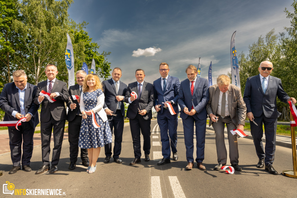
[[[131,97],[130,94],[132,91],[135,91],[139,96],[137,85],[138,85],[137,81],[128,84],[128,88],[125,96],[126,103],[129,103],[128,99]],[[151,83],[147,83],[146,81],[143,81],[141,97],[136,98],[136,100],[132,101],[132,103],[129,104],[126,116],[129,119],[134,119],[138,114],[137,108],[139,108],[140,110],[145,109],[147,113],[143,115],[143,118],[144,120],[149,120],[152,118],[151,108],[153,108],[153,105],[154,105],[154,87]]]

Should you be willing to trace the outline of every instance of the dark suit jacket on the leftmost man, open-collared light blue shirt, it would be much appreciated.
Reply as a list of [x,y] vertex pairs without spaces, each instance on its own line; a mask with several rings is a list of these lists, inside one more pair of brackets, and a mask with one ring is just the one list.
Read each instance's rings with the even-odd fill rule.
[[[24,107],[25,112],[31,113],[33,116],[29,121],[32,128],[35,128],[39,123],[38,118],[38,108],[39,105],[33,103],[35,98],[37,86],[27,83],[27,88],[25,90]],[[18,111],[20,113],[20,96],[18,88],[16,88],[15,83],[4,84],[3,90],[0,95],[0,108],[5,112],[4,121],[16,121],[17,118],[13,117],[11,114],[13,111]]]

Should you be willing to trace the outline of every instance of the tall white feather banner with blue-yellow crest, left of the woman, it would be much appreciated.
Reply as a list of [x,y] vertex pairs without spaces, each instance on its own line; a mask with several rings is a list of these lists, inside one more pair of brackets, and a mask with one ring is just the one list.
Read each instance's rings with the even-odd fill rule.
[[73,48],[71,43],[71,38],[67,33],[67,47],[65,50],[65,62],[68,70],[68,87],[75,84],[74,77],[74,57],[73,57]]

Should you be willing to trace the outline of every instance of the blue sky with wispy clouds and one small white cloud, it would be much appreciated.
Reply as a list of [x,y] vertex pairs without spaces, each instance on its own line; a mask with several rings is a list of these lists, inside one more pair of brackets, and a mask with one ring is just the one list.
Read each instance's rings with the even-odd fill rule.
[[[121,81],[136,81],[135,70],[145,70],[145,81],[160,77],[159,64],[169,64],[169,75],[187,78],[185,68],[201,63],[207,78],[212,61],[213,84],[231,71],[230,41],[236,31],[238,54],[271,29],[285,32],[290,26],[285,7],[292,0],[75,0],[68,10],[77,23],[86,21],[86,31],[99,52],[110,51],[111,68],[122,69]],[[88,65],[90,67],[90,65]]]

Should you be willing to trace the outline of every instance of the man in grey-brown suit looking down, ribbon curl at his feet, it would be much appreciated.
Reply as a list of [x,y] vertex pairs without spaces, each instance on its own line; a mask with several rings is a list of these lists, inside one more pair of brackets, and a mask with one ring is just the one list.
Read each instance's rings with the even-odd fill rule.
[[221,170],[227,163],[227,150],[225,146],[225,124],[227,126],[229,142],[229,158],[231,166],[236,171],[241,171],[238,165],[238,146],[237,135],[230,132],[233,129],[243,131],[247,107],[241,96],[241,89],[230,84],[230,78],[226,75],[220,75],[217,78],[217,84],[209,87],[209,101],[206,105],[209,115],[209,126],[212,125],[216,133],[216,147],[218,165],[214,170]]

